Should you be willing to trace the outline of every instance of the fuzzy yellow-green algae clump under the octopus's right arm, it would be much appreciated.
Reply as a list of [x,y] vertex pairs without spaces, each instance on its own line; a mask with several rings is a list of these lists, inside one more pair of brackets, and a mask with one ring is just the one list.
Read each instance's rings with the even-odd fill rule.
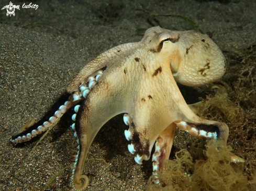
[[246,191],[249,181],[242,174],[243,163],[231,163],[232,148],[224,146],[222,140],[210,140],[206,146],[207,160],[193,163],[191,154],[182,149],[175,153],[176,159],[165,160],[163,173],[158,172],[160,183],[149,178],[147,191],[150,190],[232,190]]

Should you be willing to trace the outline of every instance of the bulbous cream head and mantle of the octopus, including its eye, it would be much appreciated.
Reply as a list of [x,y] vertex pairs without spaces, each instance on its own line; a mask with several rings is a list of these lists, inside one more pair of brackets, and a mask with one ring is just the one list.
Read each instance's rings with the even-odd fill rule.
[[174,79],[183,85],[202,86],[218,80],[226,71],[224,55],[206,34],[153,27],[142,41],[148,39],[149,49],[155,47],[153,50],[170,64]]

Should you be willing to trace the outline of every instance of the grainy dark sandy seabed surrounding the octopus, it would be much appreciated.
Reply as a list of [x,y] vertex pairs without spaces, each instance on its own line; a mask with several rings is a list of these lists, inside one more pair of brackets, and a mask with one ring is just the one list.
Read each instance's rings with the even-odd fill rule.
[[[39,120],[86,63],[111,47],[142,38],[142,33],[137,33],[136,29],[151,26],[146,21],[148,17],[135,8],[190,18],[205,32],[214,31],[213,40],[225,52],[240,54],[256,44],[254,0],[231,0],[228,4],[194,0],[33,1],[39,5],[37,10],[22,8],[29,1],[12,2],[20,5],[20,10],[15,10],[15,17],[7,17],[6,9],[0,11],[1,190],[41,190],[55,173],[72,163],[69,159],[76,153],[77,144],[70,128],[71,110],[41,141],[15,185],[12,183],[19,166],[41,136],[18,146],[13,146],[8,139],[27,121]],[[9,1],[1,1],[0,7],[8,4]],[[196,29],[180,18],[158,19],[163,28]],[[228,58],[227,61],[229,63]],[[253,134],[255,142],[254,122],[248,128],[251,128],[249,133]],[[152,170],[151,160],[142,165],[133,160],[127,149],[125,129],[128,127],[123,123],[123,115],[119,115],[96,136],[88,159],[103,160],[85,163],[84,173],[90,178],[87,190],[146,188]],[[244,174],[251,177],[251,171],[255,169],[255,144],[247,146],[241,141],[236,141],[236,136],[228,140],[241,144],[239,148],[244,147],[236,152],[240,157],[251,149],[244,167]],[[189,142],[190,136],[177,130],[173,148],[175,151],[187,148]],[[71,190],[71,172],[71,168],[66,169],[48,189]]]

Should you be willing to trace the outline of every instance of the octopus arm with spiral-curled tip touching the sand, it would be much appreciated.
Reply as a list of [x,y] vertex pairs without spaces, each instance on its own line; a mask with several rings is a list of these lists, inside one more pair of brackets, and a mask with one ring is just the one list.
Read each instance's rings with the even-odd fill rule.
[[[77,143],[79,144],[79,151],[76,155],[76,162],[72,174],[73,188],[75,190],[84,190],[88,186],[88,177],[82,174],[88,150],[94,137],[98,133],[98,130],[109,120],[109,118],[112,118],[117,114],[112,112],[106,117],[105,113],[93,110],[90,104],[88,104],[89,102],[93,103],[90,99],[87,99],[85,103],[80,106],[82,109],[77,112],[75,125],[72,125],[72,128],[75,129],[74,136],[78,138]],[[83,184],[82,180],[84,181]]]

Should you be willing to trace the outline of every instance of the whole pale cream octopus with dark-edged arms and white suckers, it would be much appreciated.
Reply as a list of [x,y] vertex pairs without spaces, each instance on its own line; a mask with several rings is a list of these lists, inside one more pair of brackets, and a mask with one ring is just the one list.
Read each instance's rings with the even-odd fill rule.
[[206,85],[225,71],[226,59],[208,35],[153,27],[139,42],[113,47],[86,64],[46,115],[19,130],[11,141],[18,144],[36,137],[75,105],[72,129],[79,151],[72,186],[85,190],[89,180],[82,172],[94,137],[110,118],[124,113],[129,126],[124,133],[135,161],[149,160],[155,146],[152,161],[157,180],[157,171],[169,159],[176,127],[192,136],[227,142],[228,126],[193,113],[176,84]]

